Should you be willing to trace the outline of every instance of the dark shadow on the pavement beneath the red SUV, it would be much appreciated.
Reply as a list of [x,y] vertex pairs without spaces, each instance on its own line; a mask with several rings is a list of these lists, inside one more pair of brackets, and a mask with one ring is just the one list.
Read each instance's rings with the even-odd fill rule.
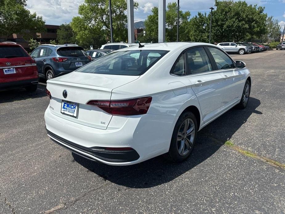
[[47,96],[46,86],[38,84],[38,88],[35,92],[27,92],[25,88],[16,88],[12,90],[0,91],[0,103],[8,103],[44,96]]

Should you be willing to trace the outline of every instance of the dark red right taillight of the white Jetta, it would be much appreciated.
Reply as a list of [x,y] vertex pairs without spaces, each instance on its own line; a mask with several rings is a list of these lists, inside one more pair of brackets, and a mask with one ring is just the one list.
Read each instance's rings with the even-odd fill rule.
[[92,100],[87,105],[95,105],[112,115],[139,115],[148,112],[151,101],[152,97],[141,97],[131,100]]

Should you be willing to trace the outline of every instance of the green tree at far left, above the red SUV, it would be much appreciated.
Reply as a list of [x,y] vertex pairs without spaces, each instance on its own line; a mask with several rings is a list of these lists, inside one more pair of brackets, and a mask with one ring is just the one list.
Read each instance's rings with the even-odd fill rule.
[[43,17],[25,8],[26,0],[2,0],[0,5],[0,33],[5,36],[21,34],[31,37],[35,32],[45,31]]

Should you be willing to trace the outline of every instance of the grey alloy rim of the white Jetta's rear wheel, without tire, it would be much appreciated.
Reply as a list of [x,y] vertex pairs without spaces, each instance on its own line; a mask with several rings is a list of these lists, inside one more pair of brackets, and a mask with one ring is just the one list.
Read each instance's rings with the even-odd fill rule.
[[187,155],[193,146],[195,138],[195,125],[193,120],[187,118],[180,126],[177,134],[177,150],[181,156]]

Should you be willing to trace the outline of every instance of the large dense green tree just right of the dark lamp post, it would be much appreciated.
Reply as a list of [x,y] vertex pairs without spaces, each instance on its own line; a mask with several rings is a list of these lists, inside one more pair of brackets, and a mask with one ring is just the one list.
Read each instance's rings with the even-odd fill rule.
[[264,7],[245,1],[218,1],[213,11],[212,37],[216,42],[260,38],[266,32]]

